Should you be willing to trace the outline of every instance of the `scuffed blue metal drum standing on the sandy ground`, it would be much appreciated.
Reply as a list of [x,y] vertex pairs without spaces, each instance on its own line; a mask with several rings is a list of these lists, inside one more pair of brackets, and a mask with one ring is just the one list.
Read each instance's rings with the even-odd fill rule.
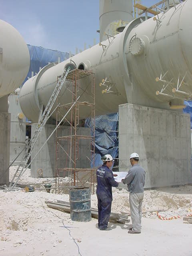
[[71,220],[91,221],[91,192],[90,188],[70,188],[70,214]]

